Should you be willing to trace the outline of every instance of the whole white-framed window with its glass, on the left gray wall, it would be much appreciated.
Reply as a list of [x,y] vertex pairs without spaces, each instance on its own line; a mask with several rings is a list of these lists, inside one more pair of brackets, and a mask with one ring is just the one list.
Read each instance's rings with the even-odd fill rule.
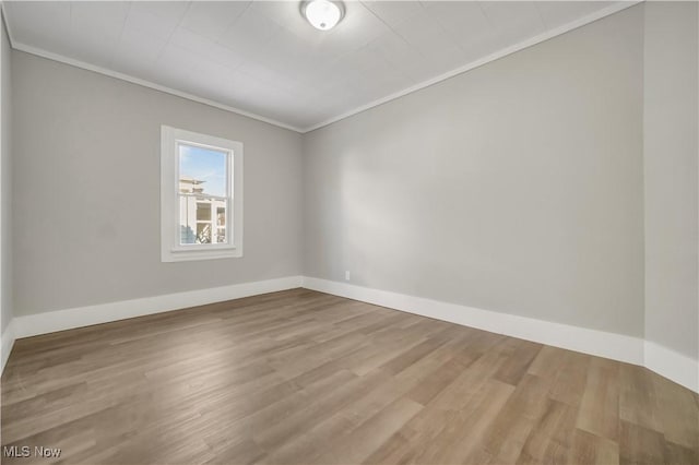
[[242,257],[242,144],[163,126],[161,259]]

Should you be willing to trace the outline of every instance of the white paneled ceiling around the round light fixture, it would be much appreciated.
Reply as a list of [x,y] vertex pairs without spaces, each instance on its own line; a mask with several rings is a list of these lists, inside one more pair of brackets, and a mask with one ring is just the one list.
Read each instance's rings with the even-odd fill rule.
[[304,132],[630,4],[348,1],[330,32],[310,26],[298,1],[4,1],[3,8],[15,48]]

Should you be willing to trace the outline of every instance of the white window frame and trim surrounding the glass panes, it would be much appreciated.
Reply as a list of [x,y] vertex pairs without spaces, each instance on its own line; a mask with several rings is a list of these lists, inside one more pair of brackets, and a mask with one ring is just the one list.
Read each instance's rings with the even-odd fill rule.
[[[179,144],[227,153],[225,243],[180,243]],[[212,215],[214,212],[212,212]],[[212,237],[216,230],[212,230]],[[213,135],[161,127],[161,260],[229,259],[242,257],[242,143]]]

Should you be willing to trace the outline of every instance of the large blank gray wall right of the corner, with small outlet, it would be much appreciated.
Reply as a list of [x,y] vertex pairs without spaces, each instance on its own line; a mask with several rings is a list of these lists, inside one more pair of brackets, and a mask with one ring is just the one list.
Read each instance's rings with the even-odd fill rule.
[[305,274],[642,336],[642,13],[307,134]]

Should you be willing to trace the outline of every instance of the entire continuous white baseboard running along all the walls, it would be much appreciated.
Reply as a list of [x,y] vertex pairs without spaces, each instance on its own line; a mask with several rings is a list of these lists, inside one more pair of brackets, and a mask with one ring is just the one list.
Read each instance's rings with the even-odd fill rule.
[[2,334],[0,373],[4,369],[16,338],[301,286],[464,326],[644,366],[687,389],[699,392],[699,362],[697,360],[639,337],[304,276],[288,276],[15,317]]

